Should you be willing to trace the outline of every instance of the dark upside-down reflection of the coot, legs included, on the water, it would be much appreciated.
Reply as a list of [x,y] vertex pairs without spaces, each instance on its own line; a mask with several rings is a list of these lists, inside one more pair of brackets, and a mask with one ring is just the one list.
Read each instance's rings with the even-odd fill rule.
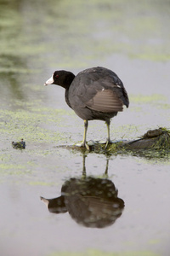
[[118,190],[114,183],[107,178],[108,164],[105,177],[87,177],[83,155],[82,177],[72,177],[65,181],[61,188],[61,196],[41,200],[53,213],[69,212],[71,217],[86,227],[105,228],[114,224],[121,217],[124,201],[118,198]]

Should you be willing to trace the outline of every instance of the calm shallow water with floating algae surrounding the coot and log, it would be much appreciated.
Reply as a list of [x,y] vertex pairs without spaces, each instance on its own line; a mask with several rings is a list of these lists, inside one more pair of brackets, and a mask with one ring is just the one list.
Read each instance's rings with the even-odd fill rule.
[[[130,107],[112,119],[112,140],[169,128],[169,12],[166,0],[0,3],[2,255],[169,255],[169,155],[86,153],[87,177],[111,180],[125,204],[107,227],[87,228],[40,200],[83,171],[82,152],[60,147],[82,140],[82,119],[62,88],[42,85],[55,69],[118,74]],[[21,137],[26,149],[12,148]],[[105,138],[105,123],[89,122],[88,140]]]

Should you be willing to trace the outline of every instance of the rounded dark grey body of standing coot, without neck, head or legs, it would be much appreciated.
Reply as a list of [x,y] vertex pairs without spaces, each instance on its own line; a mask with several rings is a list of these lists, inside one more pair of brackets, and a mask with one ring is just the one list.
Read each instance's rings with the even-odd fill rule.
[[[128,107],[129,104],[121,79],[105,67],[92,67],[78,73],[70,86],[68,98],[71,108],[82,119],[103,119],[98,118],[99,113],[110,113],[110,116],[113,113],[114,116],[122,111],[123,105]],[[97,114],[96,118],[89,117],[87,108],[93,111],[93,115]],[[87,118],[84,118],[85,109]]]

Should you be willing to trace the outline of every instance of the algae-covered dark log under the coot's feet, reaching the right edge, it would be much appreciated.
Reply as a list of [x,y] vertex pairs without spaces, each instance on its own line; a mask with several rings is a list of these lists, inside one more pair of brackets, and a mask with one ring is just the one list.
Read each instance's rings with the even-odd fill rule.
[[133,138],[133,140],[120,140],[119,142],[108,144],[107,148],[105,148],[105,143],[99,143],[97,141],[88,143],[89,150],[79,147],[76,144],[73,146],[59,146],[59,148],[68,148],[73,152],[79,151],[82,154],[93,152],[95,154],[106,154],[108,156],[117,154],[124,156],[131,155],[150,160],[150,163],[151,161],[157,161],[166,164],[167,162],[165,160],[169,160],[170,158],[170,131],[167,128],[160,129],[162,133],[156,137],[150,137],[150,140],[142,136],[137,140]]

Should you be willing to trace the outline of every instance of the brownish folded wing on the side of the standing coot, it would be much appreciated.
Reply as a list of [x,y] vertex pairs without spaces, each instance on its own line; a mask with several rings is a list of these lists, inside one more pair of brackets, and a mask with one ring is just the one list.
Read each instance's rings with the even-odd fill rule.
[[122,111],[123,103],[112,90],[99,90],[86,106],[96,111],[112,113]]

